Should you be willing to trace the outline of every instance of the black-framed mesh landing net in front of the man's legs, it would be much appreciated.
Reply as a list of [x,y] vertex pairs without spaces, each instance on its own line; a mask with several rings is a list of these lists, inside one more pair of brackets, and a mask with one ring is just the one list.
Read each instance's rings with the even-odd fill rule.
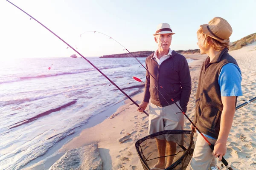
[[[138,140],[135,147],[144,170],[186,170],[195,144],[190,130],[164,130]],[[164,164],[157,169],[158,160]]]

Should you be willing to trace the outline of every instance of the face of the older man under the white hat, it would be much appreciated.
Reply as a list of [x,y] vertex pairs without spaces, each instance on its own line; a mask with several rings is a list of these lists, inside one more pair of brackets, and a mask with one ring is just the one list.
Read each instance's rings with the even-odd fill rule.
[[155,42],[158,44],[158,50],[169,50],[172,42],[172,34],[159,34],[155,36]]

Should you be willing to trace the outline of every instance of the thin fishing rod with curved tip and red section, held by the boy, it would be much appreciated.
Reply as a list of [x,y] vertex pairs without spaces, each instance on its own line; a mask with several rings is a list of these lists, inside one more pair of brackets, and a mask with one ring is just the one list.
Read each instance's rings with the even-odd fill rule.
[[[86,32],[84,32],[84,33],[87,33],[87,32],[96,33],[97,31],[86,31]],[[84,33],[82,33],[82,34],[84,34]],[[101,32],[97,32],[97,33],[103,34],[103,33],[101,33]],[[82,34],[80,34],[80,37],[81,37]],[[110,36],[108,36],[108,35],[106,35],[106,34],[103,34],[103,35],[109,37],[109,39],[114,40],[112,37],[110,37]],[[116,41],[116,40],[114,40],[114,41]],[[116,41],[116,42],[119,43],[118,41]],[[120,43],[119,43],[119,44],[120,44]],[[121,45],[123,48],[125,48],[122,44],[120,44],[120,45]],[[128,51],[127,48],[125,48],[124,50]],[[131,54],[138,62],[140,62],[130,51],[128,51],[128,53]],[[145,68],[145,66],[144,66],[141,62],[140,62],[140,64],[143,66],[143,68]],[[147,68],[145,68],[145,70],[148,71]],[[150,74],[151,77],[153,77],[153,79],[158,83],[158,81],[154,78],[154,76],[153,76],[149,71],[148,71],[148,74]],[[136,78],[137,78],[137,77],[136,77]],[[139,79],[139,78],[137,78],[137,79]],[[135,79],[135,80],[137,80],[137,79]],[[138,81],[138,80],[137,80],[137,81]],[[142,82],[142,81],[140,80],[139,82]],[[186,118],[189,120],[189,122],[190,122],[190,123],[193,125],[193,127],[195,128],[195,130],[197,130],[198,133],[200,133],[200,135],[204,138],[204,140],[207,142],[207,144],[209,144],[209,147],[210,147],[210,148],[212,149],[212,151],[213,151],[213,150],[214,150],[214,145],[209,142],[209,140],[204,136],[203,133],[201,133],[201,131],[198,129],[198,127],[196,127],[196,125],[192,122],[192,120],[189,119],[189,117],[188,117],[188,116],[186,115],[186,113],[182,110],[182,108],[180,108],[180,106],[177,105],[177,103],[174,101],[174,99],[172,99],[172,97],[169,96],[169,94],[168,94],[167,91],[163,88],[163,86],[161,86],[159,83],[158,83],[158,85],[160,86],[160,88],[163,89],[163,91],[164,91],[164,92],[167,94],[167,96],[172,100],[172,102],[174,102],[174,104],[180,109],[181,113],[183,113],[183,115],[186,116]],[[219,156],[218,156],[218,157],[219,157]],[[221,161],[222,161],[222,163],[223,163],[229,170],[233,170],[233,168],[228,164],[228,162],[226,161],[226,159],[224,159],[224,156],[222,156]]]

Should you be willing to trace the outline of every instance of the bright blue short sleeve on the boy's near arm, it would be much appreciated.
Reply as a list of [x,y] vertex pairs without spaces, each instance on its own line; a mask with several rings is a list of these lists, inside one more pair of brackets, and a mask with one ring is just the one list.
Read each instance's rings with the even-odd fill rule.
[[241,70],[237,65],[233,63],[224,65],[218,77],[221,96],[243,96],[241,81]]

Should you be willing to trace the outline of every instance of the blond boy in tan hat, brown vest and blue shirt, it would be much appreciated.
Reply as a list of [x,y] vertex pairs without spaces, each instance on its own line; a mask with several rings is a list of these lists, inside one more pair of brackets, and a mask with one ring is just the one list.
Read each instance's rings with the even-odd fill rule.
[[215,147],[212,151],[198,134],[190,170],[217,169],[216,158],[219,156],[220,161],[227,151],[237,96],[242,96],[241,71],[236,59],[228,54],[231,34],[230,24],[221,17],[201,25],[197,32],[200,52],[209,57],[199,76],[194,123]]

